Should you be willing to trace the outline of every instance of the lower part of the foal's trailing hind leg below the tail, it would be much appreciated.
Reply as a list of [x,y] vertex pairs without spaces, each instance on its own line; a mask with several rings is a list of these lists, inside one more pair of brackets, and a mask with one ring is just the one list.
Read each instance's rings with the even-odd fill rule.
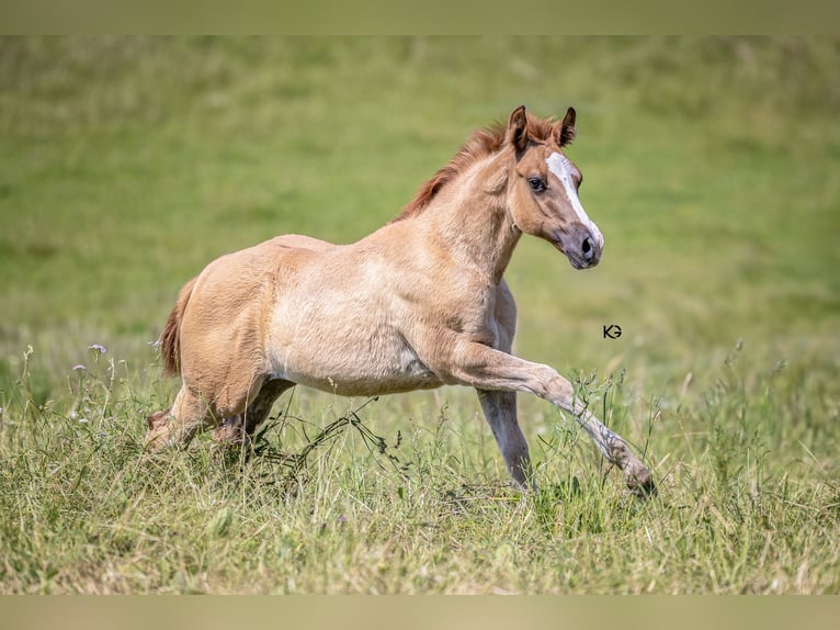
[[160,450],[169,446],[186,446],[196,434],[215,423],[207,401],[186,385],[181,387],[172,407],[147,418],[146,448]]

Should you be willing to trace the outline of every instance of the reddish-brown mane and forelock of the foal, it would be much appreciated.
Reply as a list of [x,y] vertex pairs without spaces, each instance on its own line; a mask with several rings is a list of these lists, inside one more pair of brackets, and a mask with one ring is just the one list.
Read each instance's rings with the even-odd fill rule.
[[[538,142],[547,140],[552,135],[554,124],[553,117],[537,119],[527,114],[529,137]],[[394,221],[409,218],[422,212],[441,189],[461,175],[469,165],[498,151],[504,144],[507,131],[507,125],[496,123],[490,127],[474,132],[466,144],[455,154],[455,157],[420,187],[415,199],[406,204],[402,212]]]

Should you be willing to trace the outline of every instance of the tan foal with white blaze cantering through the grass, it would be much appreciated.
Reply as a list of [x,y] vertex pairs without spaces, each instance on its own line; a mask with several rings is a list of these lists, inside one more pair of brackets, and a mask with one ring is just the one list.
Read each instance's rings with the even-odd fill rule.
[[604,237],[578,196],[582,176],[561,121],[517,108],[476,131],[395,220],[348,245],[283,235],[211,262],[180,291],[159,346],[182,386],[148,416],[146,445],[185,447],[200,431],[247,443],[295,384],[347,396],[441,385],[475,389],[510,475],[535,488],[517,394],[574,416],[636,495],[650,471],[548,365],[511,352],[517,304],[503,274],[523,234],[575,269],[598,265]]

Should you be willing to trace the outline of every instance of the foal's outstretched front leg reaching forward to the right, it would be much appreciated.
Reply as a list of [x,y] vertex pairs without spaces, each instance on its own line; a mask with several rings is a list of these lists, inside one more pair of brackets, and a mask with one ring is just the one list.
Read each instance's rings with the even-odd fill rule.
[[530,392],[569,412],[594,440],[606,460],[617,465],[627,486],[638,495],[656,491],[650,471],[624,439],[603,426],[580,401],[571,383],[548,365],[525,361],[481,344],[456,340],[452,346],[445,382],[479,390]]

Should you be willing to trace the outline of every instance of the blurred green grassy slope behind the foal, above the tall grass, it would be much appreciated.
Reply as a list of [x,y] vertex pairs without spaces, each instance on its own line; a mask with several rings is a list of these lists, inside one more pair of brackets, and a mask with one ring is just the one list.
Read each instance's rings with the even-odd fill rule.
[[577,109],[605,251],[575,271],[522,240],[519,355],[648,391],[738,339],[837,365],[838,40],[27,37],[0,40],[0,379],[32,346],[56,396],[93,344],[157,374],[209,260],[368,234],[520,104]]

